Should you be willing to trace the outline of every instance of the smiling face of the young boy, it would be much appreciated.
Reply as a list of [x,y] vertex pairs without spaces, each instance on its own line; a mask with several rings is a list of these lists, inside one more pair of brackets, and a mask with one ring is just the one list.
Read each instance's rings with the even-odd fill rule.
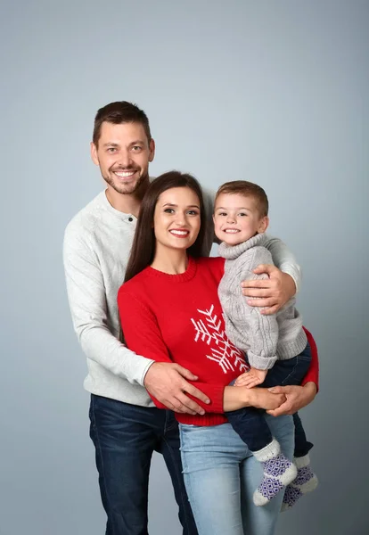
[[238,245],[266,231],[269,219],[261,217],[252,197],[241,193],[220,193],[214,207],[215,234],[227,245]]

